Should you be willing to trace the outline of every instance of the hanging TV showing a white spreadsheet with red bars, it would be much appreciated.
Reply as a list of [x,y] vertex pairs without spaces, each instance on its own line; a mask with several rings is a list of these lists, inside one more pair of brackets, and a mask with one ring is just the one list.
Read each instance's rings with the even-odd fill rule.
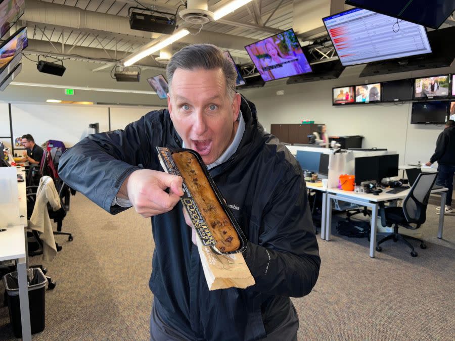
[[323,22],[343,66],[431,53],[422,25],[359,8]]

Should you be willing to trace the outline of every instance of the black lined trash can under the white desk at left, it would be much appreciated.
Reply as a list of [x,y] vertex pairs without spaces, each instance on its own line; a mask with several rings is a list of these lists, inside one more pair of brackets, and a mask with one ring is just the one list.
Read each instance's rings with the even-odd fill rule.
[[[45,286],[48,279],[39,268],[27,270],[28,281],[28,303],[30,307],[30,326],[31,333],[39,333],[44,330],[45,316]],[[19,303],[19,280],[17,271],[3,276],[7,293],[8,311],[10,313],[10,322],[13,326],[14,336],[22,337],[21,307]]]

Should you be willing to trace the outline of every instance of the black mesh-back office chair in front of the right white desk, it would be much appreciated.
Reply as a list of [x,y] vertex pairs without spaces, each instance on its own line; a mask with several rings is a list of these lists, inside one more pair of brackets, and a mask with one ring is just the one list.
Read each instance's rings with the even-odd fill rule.
[[[421,173],[417,177],[410,192],[407,194],[403,201],[403,207],[387,207],[381,210],[381,220],[383,225],[391,227],[393,224],[393,233],[385,236],[378,241],[376,251],[382,251],[380,245],[386,241],[393,239],[394,242],[398,240],[403,241],[408,247],[411,248],[411,256],[417,257],[417,252],[407,239],[420,241],[420,248],[426,249],[427,246],[422,239],[406,236],[398,233],[398,226],[403,226],[408,229],[418,229],[426,220],[426,211],[428,206],[428,199],[430,198],[430,191],[436,181],[436,173]],[[416,224],[411,226],[410,224]]]

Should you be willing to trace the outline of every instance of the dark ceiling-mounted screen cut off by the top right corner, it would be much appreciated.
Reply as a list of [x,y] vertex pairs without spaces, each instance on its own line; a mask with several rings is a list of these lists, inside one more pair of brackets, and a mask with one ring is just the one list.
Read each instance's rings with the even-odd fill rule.
[[455,11],[455,0],[346,0],[346,4],[434,29]]

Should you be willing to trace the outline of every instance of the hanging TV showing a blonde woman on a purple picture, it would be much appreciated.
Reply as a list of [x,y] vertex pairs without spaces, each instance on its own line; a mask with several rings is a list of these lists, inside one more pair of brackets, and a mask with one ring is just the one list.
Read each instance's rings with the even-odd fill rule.
[[266,82],[311,72],[311,67],[292,29],[245,46]]

